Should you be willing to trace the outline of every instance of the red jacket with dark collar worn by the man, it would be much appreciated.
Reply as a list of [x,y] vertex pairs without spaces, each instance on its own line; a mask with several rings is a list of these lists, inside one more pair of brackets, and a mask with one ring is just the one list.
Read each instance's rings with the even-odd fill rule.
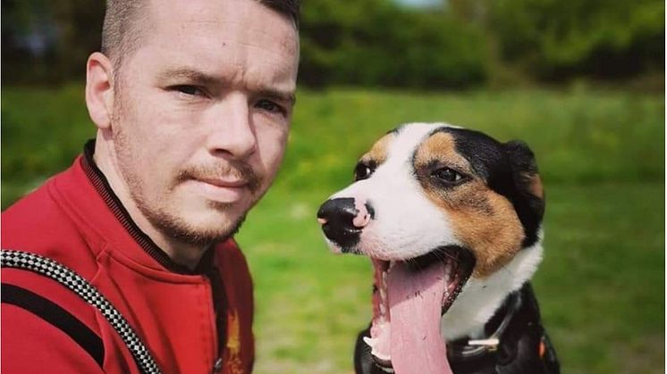
[[[195,271],[171,262],[124,210],[92,146],[2,213],[2,248],[39,253],[88,279],[164,373],[250,372],[252,282],[237,245],[209,249]],[[2,283],[3,373],[139,372],[102,314],[68,288],[15,269],[2,270]]]

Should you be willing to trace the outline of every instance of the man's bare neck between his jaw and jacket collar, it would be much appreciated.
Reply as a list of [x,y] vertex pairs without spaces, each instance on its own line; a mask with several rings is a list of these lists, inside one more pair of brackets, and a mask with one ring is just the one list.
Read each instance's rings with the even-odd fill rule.
[[130,189],[125,182],[125,179],[122,178],[122,173],[118,166],[117,158],[115,157],[113,143],[109,140],[102,139],[101,137],[101,134],[97,134],[93,160],[95,161],[97,168],[105,175],[106,180],[109,182],[109,186],[120,200],[122,206],[130,214],[131,220],[133,220],[139,229],[148,235],[148,237],[150,237],[173,262],[185,266],[190,270],[194,270],[207,248],[183,243],[173,237],[168,237],[148,220],[132,198]]

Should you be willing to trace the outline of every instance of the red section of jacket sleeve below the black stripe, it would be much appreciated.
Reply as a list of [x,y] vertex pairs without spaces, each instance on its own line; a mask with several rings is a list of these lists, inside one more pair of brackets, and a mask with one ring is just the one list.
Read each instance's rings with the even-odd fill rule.
[[[3,292],[4,294],[4,292]],[[2,303],[2,370],[4,373],[102,373],[95,342],[80,331],[47,321],[15,303]],[[56,316],[55,319],[62,316]],[[73,334],[73,336],[72,336]],[[101,341],[99,342],[101,344]],[[82,345],[83,344],[83,345]]]

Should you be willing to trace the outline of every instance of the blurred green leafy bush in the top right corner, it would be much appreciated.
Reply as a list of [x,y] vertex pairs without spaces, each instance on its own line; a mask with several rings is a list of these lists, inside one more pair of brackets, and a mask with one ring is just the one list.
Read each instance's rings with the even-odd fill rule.
[[543,78],[663,71],[662,0],[498,0],[489,29],[502,58]]

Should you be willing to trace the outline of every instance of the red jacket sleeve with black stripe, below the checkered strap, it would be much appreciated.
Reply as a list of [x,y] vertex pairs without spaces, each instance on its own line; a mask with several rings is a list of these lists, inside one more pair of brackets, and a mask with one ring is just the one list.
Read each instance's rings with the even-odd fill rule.
[[102,372],[105,348],[95,308],[28,270],[2,270],[3,369]]

